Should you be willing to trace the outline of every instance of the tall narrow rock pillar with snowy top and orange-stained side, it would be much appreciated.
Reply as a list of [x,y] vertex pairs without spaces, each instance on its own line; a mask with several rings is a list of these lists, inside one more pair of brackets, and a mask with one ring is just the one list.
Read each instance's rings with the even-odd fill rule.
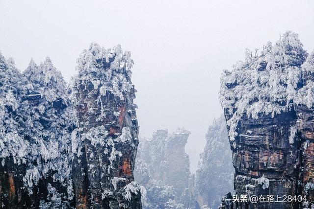
[[141,208],[133,182],[138,125],[130,52],[91,44],[78,58],[73,179],[78,208]]

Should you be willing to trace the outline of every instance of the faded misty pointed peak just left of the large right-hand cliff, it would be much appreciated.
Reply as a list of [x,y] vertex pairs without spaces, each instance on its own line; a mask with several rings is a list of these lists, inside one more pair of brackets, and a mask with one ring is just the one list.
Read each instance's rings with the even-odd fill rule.
[[[227,147],[227,148],[226,148]],[[224,116],[215,119],[206,134],[206,146],[196,171],[197,201],[217,209],[221,197],[233,190],[234,167]]]

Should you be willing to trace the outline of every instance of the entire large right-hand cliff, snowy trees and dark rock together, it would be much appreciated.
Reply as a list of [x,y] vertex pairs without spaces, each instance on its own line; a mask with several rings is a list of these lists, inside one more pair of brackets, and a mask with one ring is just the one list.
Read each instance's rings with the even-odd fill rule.
[[[225,71],[220,101],[235,167],[235,194],[277,195],[275,203],[232,203],[222,208],[311,208],[313,205],[313,54],[295,33]],[[283,201],[284,195],[307,201]]]

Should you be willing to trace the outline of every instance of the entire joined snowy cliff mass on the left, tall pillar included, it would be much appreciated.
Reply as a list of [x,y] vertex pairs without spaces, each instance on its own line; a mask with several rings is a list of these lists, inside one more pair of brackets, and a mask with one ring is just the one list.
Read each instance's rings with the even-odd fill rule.
[[68,88],[0,54],[0,208],[141,209],[130,52],[92,44]]

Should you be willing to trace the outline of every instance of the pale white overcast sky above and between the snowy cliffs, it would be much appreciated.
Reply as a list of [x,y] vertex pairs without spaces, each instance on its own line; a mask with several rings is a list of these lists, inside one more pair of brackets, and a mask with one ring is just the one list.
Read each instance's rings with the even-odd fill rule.
[[68,81],[91,42],[121,44],[134,60],[140,136],[185,127],[193,160],[222,111],[219,77],[244,48],[286,30],[314,49],[313,0],[0,0],[0,50],[25,70],[50,56]]

